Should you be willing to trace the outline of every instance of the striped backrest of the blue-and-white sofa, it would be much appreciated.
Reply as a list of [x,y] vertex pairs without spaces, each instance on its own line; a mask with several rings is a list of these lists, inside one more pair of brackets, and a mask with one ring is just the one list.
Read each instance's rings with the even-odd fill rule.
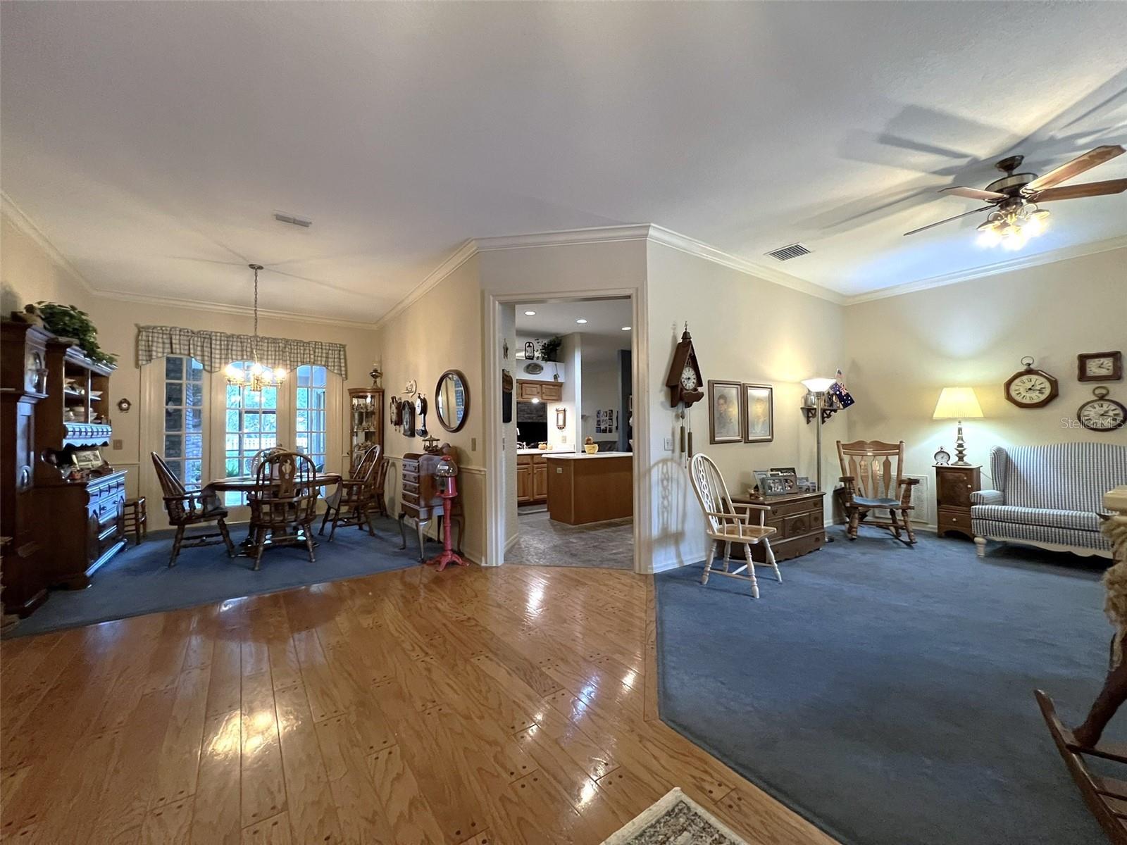
[[1005,504],[1059,510],[1101,509],[1103,493],[1127,483],[1127,447],[1053,443],[991,450],[994,487]]

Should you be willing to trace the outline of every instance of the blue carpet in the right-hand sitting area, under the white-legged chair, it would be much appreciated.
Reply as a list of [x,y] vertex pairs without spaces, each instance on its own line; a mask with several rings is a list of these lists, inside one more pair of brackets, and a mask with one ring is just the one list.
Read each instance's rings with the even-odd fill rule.
[[1075,724],[1102,685],[1095,560],[862,530],[757,602],[665,572],[662,719],[843,843],[1103,845],[1032,694]]

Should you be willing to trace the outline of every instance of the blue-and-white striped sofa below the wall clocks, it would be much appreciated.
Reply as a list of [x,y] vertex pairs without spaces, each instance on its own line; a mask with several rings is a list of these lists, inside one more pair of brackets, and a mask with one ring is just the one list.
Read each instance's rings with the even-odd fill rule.
[[997,489],[970,493],[979,558],[987,540],[1111,557],[1099,514],[1103,493],[1127,483],[1127,446],[995,446],[990,465]]

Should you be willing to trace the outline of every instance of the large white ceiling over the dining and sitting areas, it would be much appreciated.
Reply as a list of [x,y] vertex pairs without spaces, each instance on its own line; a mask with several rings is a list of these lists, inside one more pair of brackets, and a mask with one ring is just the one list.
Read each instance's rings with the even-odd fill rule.
[[[104,291],[376,319],[471,237],[657,223],[844,294],[1012,257],[947,185],[1127,142],[1127,3],[2,3],[0,183]],[[1018,48],[1026,45],[1028,55]],[[1127,176],[1127,155],[1083,180]],[[301,230],[276,210],[308,215]],[[1127,233],[1054,204],[1024,254]],[[814,254],[763,254],[802,241]]]

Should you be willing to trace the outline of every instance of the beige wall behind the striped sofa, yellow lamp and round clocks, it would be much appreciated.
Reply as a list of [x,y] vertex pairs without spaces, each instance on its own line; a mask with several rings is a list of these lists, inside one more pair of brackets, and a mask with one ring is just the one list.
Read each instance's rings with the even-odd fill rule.
[[[1092,388],[1127,404],[1127,381],[1076,381],[1076,354],[1127,353],[1127,249],[986,276],[957,285],[875,300],[844,309],[854,439],[903,439],[907,471],[930,475],[940,446],[955,453],[953,420],[933,420],[944,386],[971,386],[984,419],[964,426],[968,460],[990,471],[992,446],[1094,441],[1127,444],[1111,433],[1070,427]],[[1061,395],[1022,410],[1002,385],[1021,357],[1059,381]],[[986,483],[986,479],[983,479]]]

